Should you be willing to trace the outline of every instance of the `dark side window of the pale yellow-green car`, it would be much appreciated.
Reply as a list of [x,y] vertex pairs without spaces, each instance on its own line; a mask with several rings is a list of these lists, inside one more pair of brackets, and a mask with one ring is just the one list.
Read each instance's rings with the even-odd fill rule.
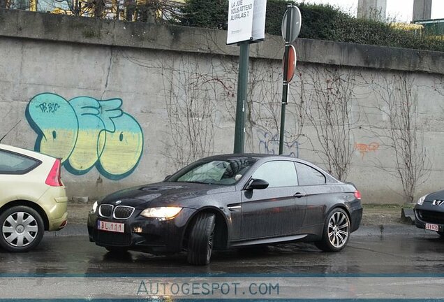
[[0,174],[24,174],[38,164],[36,159],[0,150]]

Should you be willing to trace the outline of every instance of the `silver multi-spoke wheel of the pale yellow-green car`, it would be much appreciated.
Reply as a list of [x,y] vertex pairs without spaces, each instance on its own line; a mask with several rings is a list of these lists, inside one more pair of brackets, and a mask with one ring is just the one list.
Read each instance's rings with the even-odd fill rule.
[[15,212],[9,215],[1,227],[3,238],[13,247],[25,247],[37,236],[36,218],[26,212]]

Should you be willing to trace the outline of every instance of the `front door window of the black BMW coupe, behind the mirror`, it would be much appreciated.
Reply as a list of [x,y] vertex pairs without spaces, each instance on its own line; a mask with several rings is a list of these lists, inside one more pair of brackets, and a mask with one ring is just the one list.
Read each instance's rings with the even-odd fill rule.
[[253,173],[269,183],[268,187],[288,187],[297,185],[297,175],[293,161],[268,161]]

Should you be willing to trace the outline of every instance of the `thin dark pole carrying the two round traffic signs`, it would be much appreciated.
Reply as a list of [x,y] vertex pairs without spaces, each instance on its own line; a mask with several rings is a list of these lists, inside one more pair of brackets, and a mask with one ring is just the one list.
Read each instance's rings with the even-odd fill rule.
[[283,134],[286,124],[286,105],[288,99],[288,52],[290,50],[290,30],[291,30],[291,4],[287,6],[287,31],[286,49],[283,55],[283,81],[282,81],[282,104],[281,104],[281,133],[279,134],[279,154],[283,154]]

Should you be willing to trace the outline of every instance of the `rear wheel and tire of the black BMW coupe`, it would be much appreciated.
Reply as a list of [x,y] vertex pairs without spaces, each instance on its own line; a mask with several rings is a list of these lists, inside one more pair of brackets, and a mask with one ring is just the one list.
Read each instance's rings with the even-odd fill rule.
[[339,252],[350,238],[350,219],[346,211],[334,208],[324,224],[323,238],[315,245],[325,252]]

